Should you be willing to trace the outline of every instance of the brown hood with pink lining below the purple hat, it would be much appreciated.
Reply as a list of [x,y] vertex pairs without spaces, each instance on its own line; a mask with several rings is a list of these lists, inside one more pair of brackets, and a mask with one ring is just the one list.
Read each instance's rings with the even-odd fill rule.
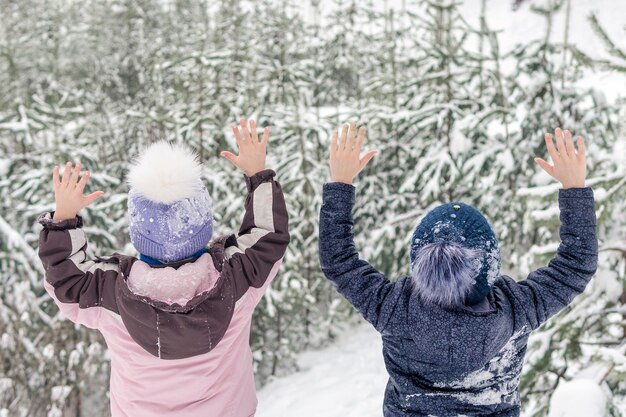
[[[234,238],[222,237],[207,254],[180,264],[149,266],[119,253],[100,259],[119,264],[117,310],[137,344],[161,359],[182,359],[207,353],[219,343],[237,302],[230,268],[222,268],[224,248]],[[204,266],[207,270],[202,271]],[[191,277],[196,272],[200,275]],[[150,276],[140,277],[142,273]],[[181,277],[183,285],[148,285]]]

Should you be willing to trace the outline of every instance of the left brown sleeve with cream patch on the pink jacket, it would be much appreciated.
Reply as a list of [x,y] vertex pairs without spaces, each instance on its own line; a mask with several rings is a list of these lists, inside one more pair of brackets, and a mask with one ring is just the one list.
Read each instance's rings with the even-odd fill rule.
[[97,327],[100,311],[84,314],[81,310],[104,307],[117,312],[115,281],[119,266],[87,260],[87,239],[80,216],[56,222],[52,215],[44,213],[38,219],[43,225],[39,258],[45,270],[46,289],[70,320]]

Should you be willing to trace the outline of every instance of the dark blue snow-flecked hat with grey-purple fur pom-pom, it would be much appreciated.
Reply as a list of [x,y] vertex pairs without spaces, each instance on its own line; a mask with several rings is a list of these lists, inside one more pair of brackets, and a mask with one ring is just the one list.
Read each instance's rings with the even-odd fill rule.
[[480,302],[500,274],[498,240],[487,219],[464,203],[426,214],[411,237],[414,289],[444,307]]

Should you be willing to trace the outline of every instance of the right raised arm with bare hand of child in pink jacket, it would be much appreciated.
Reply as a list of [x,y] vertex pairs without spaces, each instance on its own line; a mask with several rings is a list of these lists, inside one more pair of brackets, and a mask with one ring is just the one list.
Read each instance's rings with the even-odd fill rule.
[[280,264],[289,244],[289,216],[276,173],[265,169],[269,128],[259,140],[254,120],[241,119],[241,131],[232,126],[239,155],[223,151],[221,155],[245,174],[248,196],[245,214],[237,235],[237,244],[225,250],[232,268],[235,294],[239,299],[250,287],[262,287]]

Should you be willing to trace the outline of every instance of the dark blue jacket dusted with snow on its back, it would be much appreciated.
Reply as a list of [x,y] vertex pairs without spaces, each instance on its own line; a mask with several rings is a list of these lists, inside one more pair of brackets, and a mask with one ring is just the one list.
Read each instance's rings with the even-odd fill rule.
[[354,246],[355,189],[324,185],[322,269],[381,333],[389,373],[383,414],[519,416],[519,379],[530,332],[567,306],[597,267],[593,190],[559,190],[561,244],[547,267],[516,282],[501,275],[483,302],[446,310],[414,295],[411,278],[390,282]]

